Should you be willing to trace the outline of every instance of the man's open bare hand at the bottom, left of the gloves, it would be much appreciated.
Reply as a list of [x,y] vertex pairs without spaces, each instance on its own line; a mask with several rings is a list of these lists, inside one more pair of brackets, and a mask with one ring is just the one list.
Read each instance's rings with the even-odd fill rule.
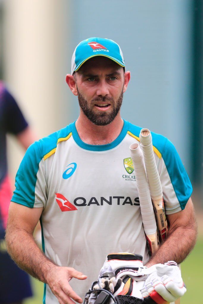
[[53,265],[51,270],[49,270],[45,276],[46,283],[49,285],[51,291],[57,297],[60,304],[75,304],[73,300],[78,303],[82,303],[82,299],[69,285],[69,281],[72,278],[85,280],[87,276],[74,268],[55,265]]

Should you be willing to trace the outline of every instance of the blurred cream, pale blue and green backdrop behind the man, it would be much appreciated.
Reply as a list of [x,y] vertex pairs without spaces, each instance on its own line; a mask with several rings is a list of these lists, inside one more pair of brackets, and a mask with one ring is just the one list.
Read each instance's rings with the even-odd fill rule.
[[[1,1],[0,78],[37,139],[77,119],[65,75],[76,45],[95,36],[116,41],[131,71],[122,117],[168,137],[192,181],[199,236],[181,266],[188,289],[181,303],[191,303],[201,299],[203,250],[203,2]],[[7,153],[14,187],[25,153],[15,136],[8,136]],[[25,303],[41,303],[42,283],[32,283],[34,297]]]

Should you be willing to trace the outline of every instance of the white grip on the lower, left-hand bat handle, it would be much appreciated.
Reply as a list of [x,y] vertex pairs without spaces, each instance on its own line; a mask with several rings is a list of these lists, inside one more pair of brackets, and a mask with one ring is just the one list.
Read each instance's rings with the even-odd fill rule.
[[138,188],[142,222],[146,234],[156,233],[156,219],[152,207],[152,200],[147,182],[143,154],[137,143],[130,146],[135,178]]

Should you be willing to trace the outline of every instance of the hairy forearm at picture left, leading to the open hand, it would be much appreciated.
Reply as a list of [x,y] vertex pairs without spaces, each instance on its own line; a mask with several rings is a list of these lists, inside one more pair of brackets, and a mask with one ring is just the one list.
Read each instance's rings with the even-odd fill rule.
[[23,229],[7,229],[7,250],[16,264],[33,277],[46,283],[47,273],[56,265],[37,246],[33,236]]

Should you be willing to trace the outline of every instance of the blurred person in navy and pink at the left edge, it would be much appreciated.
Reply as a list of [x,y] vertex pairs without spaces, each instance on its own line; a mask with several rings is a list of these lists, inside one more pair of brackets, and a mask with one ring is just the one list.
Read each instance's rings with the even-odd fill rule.
[[0,81],[0,304],[17,304],[32,296],[32,290],[29,275],[11,260],[4,240],[12,197],[6,157],[7,133],[15,135],[25,149],[36,140],[15,99]]

